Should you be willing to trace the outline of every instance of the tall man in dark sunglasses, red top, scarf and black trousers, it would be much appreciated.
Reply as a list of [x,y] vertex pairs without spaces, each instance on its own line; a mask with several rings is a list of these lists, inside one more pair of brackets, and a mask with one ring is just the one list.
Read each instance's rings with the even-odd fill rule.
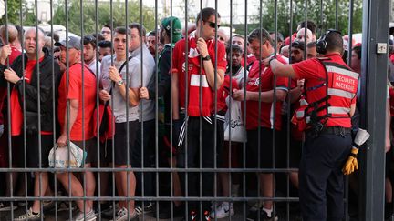
[[[173,119],[180,119],[180,110],[187,109],[188,137],[185,148],[177,157],[178,164],[184,167],[187,157],[187,167],[195,168],[201,164],[203,168],[213,168],[214,157],[214,91],[223,84],[226,70],[226,56],[223,43],[216,41],[215,32],[220,26],[220,15],[213,8],[204,8],[197,15],[197,28],[186,42],[177,42],[172,55],[171,92],[173,101]],[[188,45],[186,45],[188,44]],[[215,50],[217,46],[217,51]],[[188,48],[189,51],[185,51]],[[185,68],[185,54],[188,56],[188,67]],[[217,55],[217,60],[215,60]],[[217,69],[215,70],[215,64]],[[188,85],[185,85],[187,79]],[[187,92],[187,93],[186,93]],[[185,95],[188,95],[186,97]],[[202,102],[200,102],[202,100]],[[202,128],[200,128],[200,122]],[[202,134],[200,134],[200,129]],[[202,143],[200,143],[200,136]],[[200,145],[202,149],[200,150]],[[178,144],[181,146],[181,144]],[[185,156],[187,149],[187,156]],[[199,156],[202,153],[202,156]],[[183,164],[183,165],[182,165]],[[198,175],[188,175],[188,196],[199,196]],[[213,173],[202,173],[202,196],[213,196]],[[190,202],[188,218],[194,220],[200,215],[198,203]],[[203,218],[209,219],[210,203],[202,202]]]

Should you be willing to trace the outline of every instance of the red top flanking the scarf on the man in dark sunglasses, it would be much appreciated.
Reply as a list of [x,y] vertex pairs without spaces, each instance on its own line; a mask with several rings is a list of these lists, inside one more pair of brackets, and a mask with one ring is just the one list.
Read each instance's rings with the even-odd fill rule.
[[[195,41],[194,37],[190,37],[189,41]],[[215,42],[214,41],[207,41],[207,48],[208,48],[208,54],[211,57],[211,61],[213,64],[213,67],[215,65]],[[186,76],[186,70],[185,70],[185,48],[186,48],[186,40],[181,39],[175,44],[175,47],[173,49],[172,53],[172,70],[171,72],[173,74],[177,73],[178,74],[178,85],[179,85],[179,102],[180,102],[180,107],[185,107],[185,93],[186,93],[186,85],[185,85],[185,76]],[[187,52],[189,54],[189,52]],[[217,68],[222,69],[224,72],[226,70],[227,66],[227,60],[226,60],[226,53],[225,53],[225,47],[223,43],[217,42]],[[193,64],[191,62],[188,63],[189,65],[189,70],[188,70],[188,84],[191,82],[191,70],[193,68]],[[213,92],[213,91],[212,91]],[[189,93],[190,94],[190,93]],[[214,95],[214,92],[213,92]]]

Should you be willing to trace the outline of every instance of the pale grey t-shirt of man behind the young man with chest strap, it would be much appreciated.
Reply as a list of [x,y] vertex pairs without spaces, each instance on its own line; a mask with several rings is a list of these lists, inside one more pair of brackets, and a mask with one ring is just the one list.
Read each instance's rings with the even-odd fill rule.
[[[142,50],[141,50],[142,49]],[[141,52],[142,51],[142,52]],[[142,54],[142,55],[141,55]],[[155,72],[156,63],[150,54],[150,51],[146,47],[146,45],[142,45],[142,47],[137,48],[136,50],[131,52],[132,59],[135,60],[135,64],[141,66],[142,59],[142,85],[147,86],[150,82],[151,77],[154,77],[153,74]],[[142,58],[141,58],[142,57]],[[140,67],[141,68],[141,67]],[[149,121],[154,119],[154,99],[150,100],[140,100],[139,114],[142,113],[142,120]],[[140,121],[141,121],[141,115]]]

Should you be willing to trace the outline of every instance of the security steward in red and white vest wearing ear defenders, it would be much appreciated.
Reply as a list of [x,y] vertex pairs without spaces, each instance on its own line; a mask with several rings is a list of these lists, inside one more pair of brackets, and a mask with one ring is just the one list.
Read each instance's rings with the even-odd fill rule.
[[[275,75],[305,78],[306,102],[302,128],[306,134],[299,168],[299,197],[304,221],[342,220],[344,177],[351,150],[351,116],[356,108],[358,73],[342,60],[343,40],[328,30],[316,42],[319,58],[284,65],[264,60]],[[299,113],[299,111],[297,112]],[[300,122],[301,123],[301,122]]]

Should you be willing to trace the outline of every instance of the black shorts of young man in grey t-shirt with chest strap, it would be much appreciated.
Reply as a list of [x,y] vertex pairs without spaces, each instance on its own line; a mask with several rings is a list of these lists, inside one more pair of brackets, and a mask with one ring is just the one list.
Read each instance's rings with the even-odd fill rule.
[[[129,124],[129,134],[127,133],[127,125]],[[131,153],[135,146],[137,136],[138,120],[115,124],[115,146],[113,148],[115,165],[130,165]],[[129,136],[129,144],[127,137]],[[129,150],[128,150],[129,149]],[[128,155],[129,151],[129,155]],[[112,148],[109,148],[109,156],[112,155]],[[129,157],[128,157],[129,156]],[[112,162],[112,157],[109,158]]]

